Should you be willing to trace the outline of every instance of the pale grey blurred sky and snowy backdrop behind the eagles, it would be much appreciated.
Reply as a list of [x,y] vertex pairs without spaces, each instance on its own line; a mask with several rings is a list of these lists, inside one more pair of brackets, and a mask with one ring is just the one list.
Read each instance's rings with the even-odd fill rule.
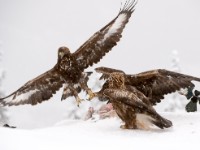
[[[76,51],[116,17],[121,2],[125,0],[0,0],[1,95],[10,94],[51,69],[57,61],[60,46]],[[107,66],[134,74],[164,68],[200,77],[199,56],[199,0],[139,0],[121,41],[100,63],[88,70]],[[96,83],[96,79],[93,75],[89,83],[94,89],[101,84]],[[77,107],[73,98],[61,102],[61,92],[37,106],[1,110],[12,125],[38,128],[66,118],[80,118],[89,106],[98,103],[83,102],[75,113],[73,110]],[[179,98],[168,97],[172,103],[173,99]],[[180,107],[184,111],[182,102],[187,103],[182,100],[181,104],[173,104],[175,107],[171,108],[166,100],[168,104],[157,109],[176,111],[175,108]]]

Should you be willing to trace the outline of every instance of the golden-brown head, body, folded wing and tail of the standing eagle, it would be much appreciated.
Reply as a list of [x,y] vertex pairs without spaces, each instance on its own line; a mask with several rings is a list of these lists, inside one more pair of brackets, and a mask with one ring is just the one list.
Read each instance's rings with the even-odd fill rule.
[[124,129],[148,128],[154,124],[163,129],[172,126],[171,121],[161,117],[148,98],[136,88],[125,84],[125,74],[111,73],[108,88],[104,90],[118,116],[125,122]]

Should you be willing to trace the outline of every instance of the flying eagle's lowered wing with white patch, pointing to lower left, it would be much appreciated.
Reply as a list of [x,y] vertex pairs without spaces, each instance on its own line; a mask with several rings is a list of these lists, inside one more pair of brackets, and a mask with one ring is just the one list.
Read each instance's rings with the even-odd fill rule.
[[53,68],[28,81],[9,96],[0,98],[0,105],[36,105],[50,99],[62,87],[63,83],[60,74]]

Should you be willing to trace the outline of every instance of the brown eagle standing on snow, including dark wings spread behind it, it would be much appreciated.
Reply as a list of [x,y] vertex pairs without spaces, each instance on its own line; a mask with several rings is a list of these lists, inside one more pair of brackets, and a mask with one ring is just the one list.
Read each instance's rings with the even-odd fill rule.
[[191,81],[200,82],[200,78],[164,69],[133,75],[106,67],[95,70],[102,73],[100,79],[106,80],[95,96],[113,104],[118,116],[125,122],[124,128],[138,128],[144,122],[141,118],[145,118],[143,125],[148,121],[160,128],[170,127],[172,123],[156,113],[152,106],[161,102],[165,94],[194,87]]

